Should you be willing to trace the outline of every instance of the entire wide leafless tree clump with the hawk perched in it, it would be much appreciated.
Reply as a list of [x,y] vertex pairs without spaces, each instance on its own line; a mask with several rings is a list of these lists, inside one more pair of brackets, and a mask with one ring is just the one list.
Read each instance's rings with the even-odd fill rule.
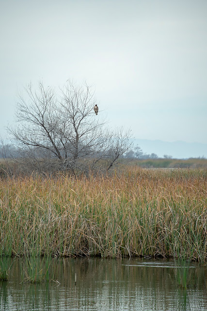
[[74,82],[57,94],[51,87],[32,84],[19,95],[16,127],[8,131],[21,150],[21,159],[44,168],[66,169],[75,173],[101,168],[107,159],[107,169],[129,148],[130,133],[107,129],[107,121],[96,116],[96,99],[91,87]]

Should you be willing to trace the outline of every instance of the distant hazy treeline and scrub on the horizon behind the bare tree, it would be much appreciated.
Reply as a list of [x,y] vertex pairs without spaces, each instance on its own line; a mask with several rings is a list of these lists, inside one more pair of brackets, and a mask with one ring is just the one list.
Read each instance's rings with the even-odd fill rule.
[[[207,159],[206,158],[189,158],[189,159],[173,159],[170,156],[165,156],[164,158],[158,158],[155,154],[143,155],[143,152],[138,147],[137,152],[128,152],[120,161],[116,164],[116,169],[120,171],[125,171],[126,168],[131,168],[134,170],[136,168],[160,168],[160,169],[206,169]],[[106,160],[102,161],[103,165]],[[50,163],[51,162],[51,163]],[[47,164],[47,165],[46,165]],[[62,171],[62,170],[61,170]],[[36,173],[57,173],[58,166],[56,162],[51,158],[38,157],[26,158],[21,161],[19,157],[18,149],[12,145],[0,145],[0,176],[18,176],[18,175],[30,175],[33,172]],[[97,172],[96,172],[97,173]]]

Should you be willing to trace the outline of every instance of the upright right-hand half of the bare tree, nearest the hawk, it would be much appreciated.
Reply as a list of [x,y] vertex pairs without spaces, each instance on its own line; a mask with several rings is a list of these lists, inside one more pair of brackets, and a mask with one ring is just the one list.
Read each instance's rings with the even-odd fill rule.
[[90,162],[92,168],[108,146],[109,136],[103,131],[106,120],[96,117],[93,110],[96,99],[89,86],[69,82],[61,91],[61,115],[68,121],[68,130],[63,135],[68,147],[64,148],[64,166],[77,168],[87,162],[88,167]]

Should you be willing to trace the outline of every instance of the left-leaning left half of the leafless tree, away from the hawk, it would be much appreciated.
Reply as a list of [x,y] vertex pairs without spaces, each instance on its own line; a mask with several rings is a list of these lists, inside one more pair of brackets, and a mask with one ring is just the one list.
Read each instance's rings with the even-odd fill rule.
[[60,161],[62,135],[59,132],[61,115],[57,109],[55,92],[39,83],[39,92],[32,85],[25,88],[26,99],[19,94],[16,118],[18,126],[8,128],[18,146],[33,146],[48,150]]

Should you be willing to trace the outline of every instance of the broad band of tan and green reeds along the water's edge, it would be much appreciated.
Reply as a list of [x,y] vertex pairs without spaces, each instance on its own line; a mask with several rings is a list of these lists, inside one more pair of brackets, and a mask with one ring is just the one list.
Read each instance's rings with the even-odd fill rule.
[[[152,255],[207,259],[207,171],[2,179],[8,256]],[[1,250],[0,250],[1,251]]]

